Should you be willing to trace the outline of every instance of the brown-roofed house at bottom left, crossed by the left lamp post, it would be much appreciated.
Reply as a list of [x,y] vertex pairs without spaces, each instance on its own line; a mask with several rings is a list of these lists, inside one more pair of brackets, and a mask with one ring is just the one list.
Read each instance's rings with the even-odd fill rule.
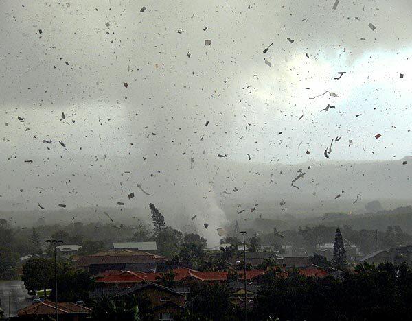
[[[18,320],[38,320],[39,318],[54,318],[56,313],[54,302],[43,301],[29,305],[17,312]],[[84,320],[91,314],[91,309],[71,302],[58,302],[57,313],[59,320]],[[42,319],[43,320],[43,319]]]

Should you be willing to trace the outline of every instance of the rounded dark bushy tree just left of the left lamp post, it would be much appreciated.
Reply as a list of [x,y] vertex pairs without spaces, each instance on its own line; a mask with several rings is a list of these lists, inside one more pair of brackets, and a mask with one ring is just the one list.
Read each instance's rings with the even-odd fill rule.
[[[53,285],[54,262],[52,259],[32,257],[23,265],[21,281],[27,290],[48,289]],[[46,293],[46,291],[45,291]]]

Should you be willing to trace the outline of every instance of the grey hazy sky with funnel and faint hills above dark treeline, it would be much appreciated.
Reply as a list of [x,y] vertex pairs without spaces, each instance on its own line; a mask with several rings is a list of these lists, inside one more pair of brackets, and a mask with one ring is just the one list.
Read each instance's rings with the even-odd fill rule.
[[152,202],[216,240],[241,209],[409,204],[412,3],[334,2],[2,1],[0,209]]

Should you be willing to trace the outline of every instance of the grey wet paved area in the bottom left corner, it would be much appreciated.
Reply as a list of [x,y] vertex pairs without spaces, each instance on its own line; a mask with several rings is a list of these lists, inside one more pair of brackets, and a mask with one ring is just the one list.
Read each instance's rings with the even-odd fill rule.
[[10,316],[16,316],[19,309],[32,304],[32,299],[27,294],[24,283],[19,280],[0,281],[0,305],[5,317],[9,316],[9,298]]

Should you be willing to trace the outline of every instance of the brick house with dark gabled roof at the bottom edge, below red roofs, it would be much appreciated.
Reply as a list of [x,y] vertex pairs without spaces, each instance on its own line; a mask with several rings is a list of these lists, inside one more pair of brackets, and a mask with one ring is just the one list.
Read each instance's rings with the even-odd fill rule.
[[184,310],[186,305],[185,294],[170,287],[156,283],[143,283],[120,293],[117,297],[134,295],[145,298],[149,302],[149,309],[153,320],[174,320]]

